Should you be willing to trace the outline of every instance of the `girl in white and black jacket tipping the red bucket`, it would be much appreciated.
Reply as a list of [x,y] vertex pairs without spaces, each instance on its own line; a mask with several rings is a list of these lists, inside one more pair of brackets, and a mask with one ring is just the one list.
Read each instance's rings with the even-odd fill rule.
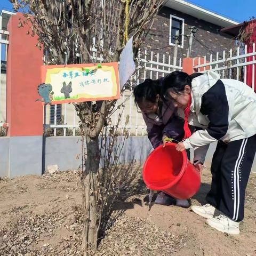
[[246,84],[220,79],[212,71],[191,76],[175,71],[162,83],[164,99],[184,111],[186,124],[197,127],[195,133],[187,133],[187,138],[178,143],[177,150],[197,149],[194,163],[202,169],[206,145],[218,141],[208,204],[192,206],[191,210],[207,218],[206,223],[213,228],[239,234],[256,151],[256,94]]

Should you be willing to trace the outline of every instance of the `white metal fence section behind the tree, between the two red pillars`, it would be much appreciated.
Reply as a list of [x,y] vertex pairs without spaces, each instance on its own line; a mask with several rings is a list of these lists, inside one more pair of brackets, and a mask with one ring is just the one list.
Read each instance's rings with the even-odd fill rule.
[[[95,53],[93,58],[97,58],[97,50],[92,49]],[[97,58],[98,61],[102,59]],[[171,65],[171,56],[167,54],[154,53],[153,51],[140,51],[137,59],[136,74],[130,80],[129,85],[126,86],[125,91],[122,93],[121,98],[116,102],[113,114],[111,114],[111,122],[116,125],[118,116],[121,115],[119,122],[119,129],[127,129],[130,135],[145,135],[146,125],[143,121],[142,115],[138,113],[134,104],[133,88],[135,85],[143,82],[146,78],[158,79],[174,70],[182,70],[181,59],[178,60],[179,65]],[[119,106],[124,105],[124,109]],[[57,105],[54,106],[54,118],[50,118],[50,106],[46,107],[46,125],[47,135],[78,135],[78,122],[79,118],[72,104],[63,104],[61,114],[57,113]],[[59,116],[58,116],[59,115]],[[61,117],[60,117],[61,115]],[[129,122],[126,123],[126,117],[129,116]],[[50,123],[50,119],[54,119],[54,123]]]

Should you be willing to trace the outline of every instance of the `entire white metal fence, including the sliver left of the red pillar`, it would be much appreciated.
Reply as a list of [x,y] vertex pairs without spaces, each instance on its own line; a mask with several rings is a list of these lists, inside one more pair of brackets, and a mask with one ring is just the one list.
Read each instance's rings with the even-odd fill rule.
[[[9,33],[4,30],[0,30],[0,54],[1,50],[6,51],[6,47],[9,42],[7,35]],[[92,49],[93,58],[98,61],[102,61],[100,56],[97,56],[97,49]],[[6,52],[5,52],[6,58]],[[218,72],[222,78],[233,78],[239,81],[251,84],[255,87],[255,44],[243,45],[243,47],[236,47],[229,51],[223,51],[216,55],[210,54],[209,57],[204,56],[198,59],[198,63],[193,63],[195,71],[205,72],[211,69]],[[5,59],[6,60],[6,59]],[[178,65],[171,65],[171,55],[159,54],[153,51],[140,51],[137,59],[137,71],[131,78],[130,83],[127,83],[126,90],[121,95],[114,108],[114,113],[111,115],[112,124],[117,124],[118,116],[121,114],[122,107],[119,109],[119,105],[124,105],[124,111],[121,115],[121,122],[119,127],[122,130],[124,127],[129,130],[130,135],[145,135],[146,125],[143,121],[142,115],[137,112],[137,108],[134,104],[133,88],[135,85],[143,82],[146,78],[157,79],[169,74],[174,70],[182,70],[181,59],[177,62]],[[3,61],[1,62],[3,63]],[[249,72],[250,69],[250,72]],[[0,126],[6,126],[5,123],[5,110],[6,110],[6,74],[1,74],[0,81]],[[50,108],[52,108],[50,111]],[[61,111],[58,111],[57,105],[46,107],[46,124],[48,135],[79,135],[79,118],[76,115],[73,104],[61,105]],[[129,122],[125,125],[126,116],[129,115]],[[50,122],[52,120],[52,122]]]

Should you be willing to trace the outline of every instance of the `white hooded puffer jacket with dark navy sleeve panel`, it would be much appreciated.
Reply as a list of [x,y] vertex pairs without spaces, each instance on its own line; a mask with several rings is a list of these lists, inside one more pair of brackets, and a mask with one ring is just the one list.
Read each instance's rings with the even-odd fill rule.
[[[197,148],[222,140],[226,143],[256,134],[256,94],[234,79],[220,79],[213,71],[193,79],[189,124],[199,127],[185,148]],[[205,150],[196,150],[204,158]],[[201,153],[199,153],[201,151]],[[197,156],[196,156],[197,155]]]

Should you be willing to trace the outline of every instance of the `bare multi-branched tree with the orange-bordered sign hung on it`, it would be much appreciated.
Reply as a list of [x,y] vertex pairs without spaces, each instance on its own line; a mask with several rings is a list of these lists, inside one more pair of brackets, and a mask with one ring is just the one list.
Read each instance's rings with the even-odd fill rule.
[[[133,36],[137,54],[164,0],[10,0],[15,10],[22,10],[31,22],[30,33],[39,37],[38,47],[45,50],[47,65],[117,62],[127,37]],[[93,37],[95,40],[93,40]],[[91,51],[92,47],[97,53]],[[94,191],[98,186],[100,163],[99,134],[108,124],[107,118],[116,101],[75,104],[86,136],[85,172],[92,193],[87,242],[97,247],[97,215]],[[95,235],[96,234],[96,235]],[[95,238],[96,237],[96,238]]]

